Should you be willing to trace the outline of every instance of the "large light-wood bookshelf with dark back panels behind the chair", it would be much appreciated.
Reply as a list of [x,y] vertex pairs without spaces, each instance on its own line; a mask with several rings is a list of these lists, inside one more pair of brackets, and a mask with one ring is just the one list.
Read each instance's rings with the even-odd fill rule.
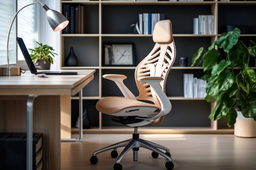
[[[82,4],[87,15],[85,34],[61,34],[61,69],[96,69],[95,78],[87,86],[87,93],[83,94],[83,102],[89,105],[89,116],[92,120],[91,129],[83,129],[85,133],[131,133],[132,128],[112,123],[110,116],[99,113],[95,109],[96,102],[107,96],[122,96],[114,82],[102,79],[104,74],[124,74],[128,78],[125,85],[135,96],[138,89],[134,80],[134,71],[137,64],[148,55],[154,46],[152,35],[133,35],[130,28],[138,20],[139,13],[164,13],[165,19],[173,24],[173,35],[177,47],[177,58],[171,68],[167,83],[166,94],[173,109],[164,118],[161,126],[147,125],[139,128],[141,133],[223,133],[232,134],[232,128],[226,128],[226,120],[209,120],[207,117],[213,110],[215,103],[207,103],[203,98],[183,97],[183,74],[194,73],[195,77],[203,76],[202,66],[180,67],[180,57],[188,57],[191,63],[193,54],[199,47],[207,48],[218,36],[223,33],[223,24],[250,25],[253,29],[249,34],[241,35],[243,40],[248,38],[256,40],[256,24],[246,17],[255,17],[255,1],[220,2],[217,0],[203,2],[118,2],[118,1],[60,1],[60,9],[65,3]],[[143,7],[143,8],[142,8]],[[130,9],[133,9],[132,11]],[[171,10],[170,10],[171,9]],[[225,10],[224,10],[225,9]],[[239,10],[238,10],[239,9]],[[118,15],[116,15],[118,13]],[[226,19],[225,14],[233,14],[234,19]],[[235,16],[241,15],[241,17]],[[189,14],[189,15],[188,15]],[[193,35],[193,18],[198,15],[214,15],[214,35]],[[227,15],[229,16],[229,15]],[[229,16],[230,17],[230,16]],[[183,22],[181,22],[183,21]],[[121,22],[121,24],[120,24]],[[235,22],[235,23],[234,23]],[[129,29],[130,28],[130,29]],[[102,45],[105,43],[134,43],[135,65],[102,66]],[[143,45],[143,44],[146,44]],[[79,65],[76,67],[64,66],[65,57],[69,48],[73,46],[78,57]],[[186,50],[184,50],[186,49]],[[86,54],[86,55],[85,55]],[[255,65],[252,65],[256,69]],[[239,69],[238,67],[234,68]],[[175,83],[175,85],[174,85]],[[174,87],[178,87],[174,90]],[[78,116],[78,96],[72,96],[72,115]],[[184,107],[185,106],[185,107]],[[72,119],[72,126],[76,120]],[[72,133],[78,133],[72,128]]]

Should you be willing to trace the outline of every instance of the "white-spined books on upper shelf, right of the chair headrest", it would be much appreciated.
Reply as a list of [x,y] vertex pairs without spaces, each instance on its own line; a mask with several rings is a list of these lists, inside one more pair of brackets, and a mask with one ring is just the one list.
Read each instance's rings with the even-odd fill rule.
[[193,34],[213,35],[214,16],[198,16],[198,18],[194,18]]

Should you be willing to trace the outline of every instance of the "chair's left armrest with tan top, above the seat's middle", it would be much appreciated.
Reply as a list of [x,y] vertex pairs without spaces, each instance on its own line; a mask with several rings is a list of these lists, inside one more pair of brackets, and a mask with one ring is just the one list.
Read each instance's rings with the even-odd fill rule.
[[115,84],[118,86],[118,88],[121,90],[122,94],[125,96],[125,98],[131,98],[136,100],[135,96],[131,93],[131,91],[125,86],[124,79],[127,77],[120,74],[105,74],[102,76],[105,79],[109,79],[115,82]]

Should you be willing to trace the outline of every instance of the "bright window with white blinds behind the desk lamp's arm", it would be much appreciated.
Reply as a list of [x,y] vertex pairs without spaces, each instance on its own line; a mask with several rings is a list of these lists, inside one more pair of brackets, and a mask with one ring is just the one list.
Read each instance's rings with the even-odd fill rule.
[[[20,10],[23,6],[34,2],[36,0],[0,0],[0,65],[7,64],[7,35],[13,16],[16,13],[16,4],[17,10]],[[39,19],[37,17],[39,17],[39,6],[40,4],[34,4],[22,9],[16,18],[17,27],[16,20],[13,22],[8,45],[10,64],[25,60],[19,47],[16,55],[16,31],[17,36],[23,38],[27,48],[37,47],[35,41],[38,41],[37,24],[39,23],[37,21]]]

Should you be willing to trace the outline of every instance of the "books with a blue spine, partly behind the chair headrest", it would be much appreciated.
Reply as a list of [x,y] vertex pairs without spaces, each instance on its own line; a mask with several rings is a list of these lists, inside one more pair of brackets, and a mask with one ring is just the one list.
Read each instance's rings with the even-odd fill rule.
[[153,34],[154,26],[160,20],[164,20],[164,14],[144,13],[139,14],[139,34]]

